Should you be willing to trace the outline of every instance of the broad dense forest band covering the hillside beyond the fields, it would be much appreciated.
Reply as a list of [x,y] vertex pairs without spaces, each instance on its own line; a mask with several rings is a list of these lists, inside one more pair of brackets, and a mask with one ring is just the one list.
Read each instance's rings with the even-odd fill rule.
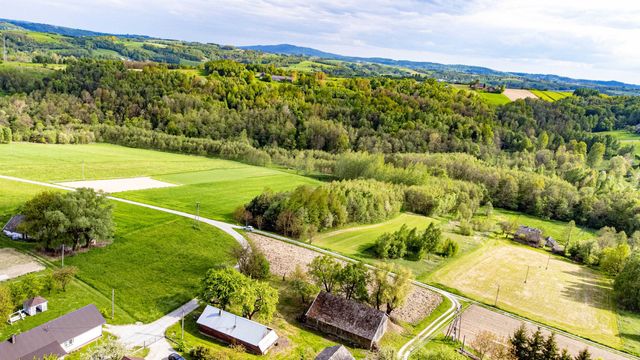
[[[273,81],[276,73],[290,78]],[[434,80],[336,78],[229,60],[208,62],[199,75],[100,60],[59,71],[4,68],[0,87],[0,126],[14,141],[106,141],[428,186],[431,200],[404,202],[425,214],[456,211],[434,200],[455,193],[472,209],[491,201],[594,228],[640,229],[633,148],[598,134],[636,126],[635,97],[578,91],[494,107]]]

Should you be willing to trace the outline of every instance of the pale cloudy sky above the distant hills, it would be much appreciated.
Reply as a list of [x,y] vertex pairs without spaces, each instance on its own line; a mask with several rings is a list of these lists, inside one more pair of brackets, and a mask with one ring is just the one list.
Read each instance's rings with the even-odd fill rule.
[[0,0],[0,17],[640,84],[634,0]]

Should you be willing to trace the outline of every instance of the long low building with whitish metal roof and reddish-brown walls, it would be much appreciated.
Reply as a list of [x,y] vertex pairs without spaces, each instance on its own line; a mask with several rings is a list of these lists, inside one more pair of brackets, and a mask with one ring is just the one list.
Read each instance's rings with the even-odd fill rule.
[[240,344],[256,355],[266,354],[278,341],[273,329],[215,306],[207,305],[196,323],[202,334],[227,344]]

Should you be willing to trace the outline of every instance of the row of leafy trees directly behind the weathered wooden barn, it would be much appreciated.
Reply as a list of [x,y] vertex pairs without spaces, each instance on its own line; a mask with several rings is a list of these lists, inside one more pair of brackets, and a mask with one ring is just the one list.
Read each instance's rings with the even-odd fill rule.
[[342,294],[347,299],[368,302],[390,315],[404,304],[412,278],[411,272],[400,266],[382,265],[369,271],[362,262],[342,264],[325,255],[314,258],[307,273],[297,267],[291,276],[291,284],[303,303],[320,288]]

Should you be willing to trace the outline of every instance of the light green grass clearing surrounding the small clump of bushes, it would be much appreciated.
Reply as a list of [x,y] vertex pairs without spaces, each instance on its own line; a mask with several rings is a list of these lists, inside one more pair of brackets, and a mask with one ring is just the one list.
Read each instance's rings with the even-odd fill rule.
[[[381,262],[375,257],[372,247],[376,239],[387,232],[393,232],[406,225],[409,229],[424,230],[430,223],[435,222],[442,229],[442,236],[455,240],[460,246],[459,254],[472,251],[483,241],[482,236],[465,236],[458,233],[457,222],[449,218],[426,217],[410,213],[402,213],[399,216],[382,223],[373,225],[354,226],[318,235],[313,239],[313,244],[325,249],[333,250],[344,255],[360,259],[369,263]],[[393,263],[407,267],[413,271],[416,279],[425,280],[431,272],[451,259],[445,259],[437,255],[428,255],[420,261],[396,259]]]

